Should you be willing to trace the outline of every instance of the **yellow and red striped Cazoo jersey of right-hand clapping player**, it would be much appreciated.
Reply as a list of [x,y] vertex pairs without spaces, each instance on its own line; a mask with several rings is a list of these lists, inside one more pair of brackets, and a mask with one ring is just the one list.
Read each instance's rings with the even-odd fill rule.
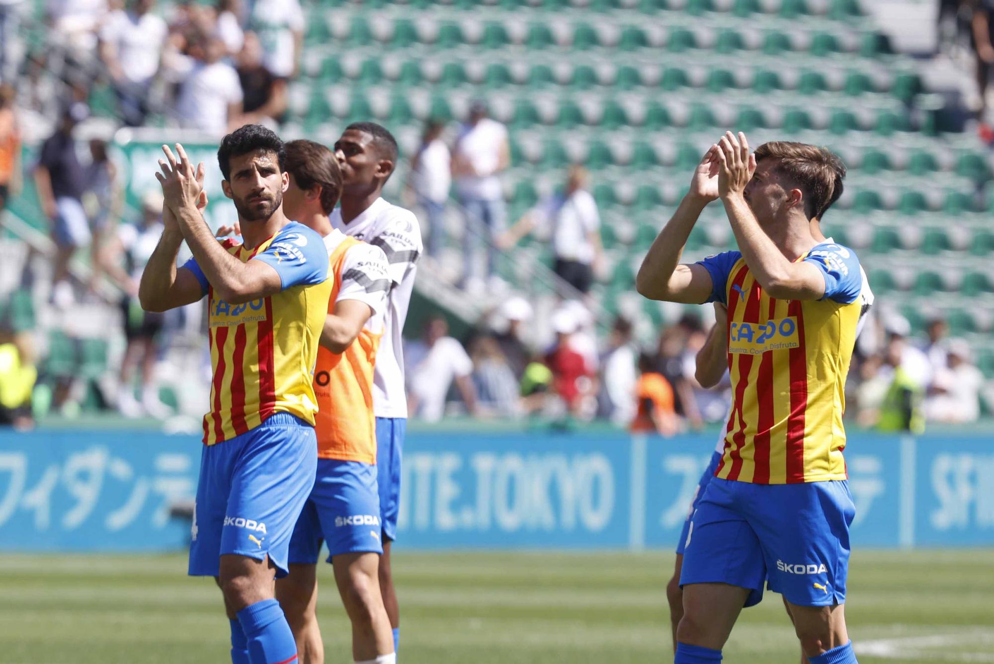
[[800,260],[822,270],[822,299],[770,297],[739,251],[700,263],[714,284],[709,301],[729,309],[733,403],[716,477],[756,484],[847,478],[842,415],[862,307],[859,259],[852,249],[821,244]]

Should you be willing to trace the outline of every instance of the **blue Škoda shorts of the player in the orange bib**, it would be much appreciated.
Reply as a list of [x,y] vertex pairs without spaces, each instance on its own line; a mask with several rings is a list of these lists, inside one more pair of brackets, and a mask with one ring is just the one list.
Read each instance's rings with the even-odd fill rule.
[[383,553],[376,466],[317,460],[317,481],[290,538],[290,563],[313,565],[328,542],[328,562],[340,554]]

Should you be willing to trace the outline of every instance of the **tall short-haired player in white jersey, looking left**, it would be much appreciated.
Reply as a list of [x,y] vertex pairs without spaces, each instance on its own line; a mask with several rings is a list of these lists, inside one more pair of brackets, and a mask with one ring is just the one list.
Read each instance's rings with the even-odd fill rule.
[[390,552],[397,539],[401,454],[408,422],[401,332],[414,291],[414,273],[422,250],[421,232],[414,213],[381,198],[398,159],[397,140],[386,128],[375,122],[350,124],[335,142],[334,149],[342,169],[344,189],[341,205],[331,214],[331,225],[347,236],[383,249],[390,262],[387,315],[373,375],[373,413],[376,415],[377,482],[383,529],[380,590],[394,630],[396,651],[400,641],[400,610]]

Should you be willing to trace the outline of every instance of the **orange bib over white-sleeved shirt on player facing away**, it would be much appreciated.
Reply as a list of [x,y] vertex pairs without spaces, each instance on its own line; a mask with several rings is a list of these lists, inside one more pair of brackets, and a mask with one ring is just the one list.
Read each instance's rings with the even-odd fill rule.
[[359,336],[344,353],[317,351],[314,394],[317,455],[322,459],[376,463],[373,369],[383,336],[390,263],[383,249],[349,238],[339,230],[324,239],[335,285],[328,313],[342,300],[359,300],[372,310]]

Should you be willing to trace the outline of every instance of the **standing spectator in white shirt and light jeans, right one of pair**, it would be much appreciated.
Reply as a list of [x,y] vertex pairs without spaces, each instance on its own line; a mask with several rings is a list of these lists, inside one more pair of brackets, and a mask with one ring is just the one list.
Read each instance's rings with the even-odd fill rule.
[[499,173],[511,163],[507,127],[487,115],[482,101],[469,107],[469,118],[455,141],[452,177],[465,211],[463,286],[482,290],[476,269],[479,245],[487,242],[487,273],[496,269],[495,242],[504,233],[506,209]]

